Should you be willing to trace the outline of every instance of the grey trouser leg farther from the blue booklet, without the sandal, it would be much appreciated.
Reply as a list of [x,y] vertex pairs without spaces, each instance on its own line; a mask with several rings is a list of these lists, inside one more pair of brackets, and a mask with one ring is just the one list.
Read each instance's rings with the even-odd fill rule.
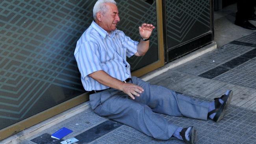
[[198,101],[173,90],[158,85],[150,85],[139,78],[133,77],[132,82],[145,90],[135,101],[145,103],[156,113],[171,116],[187,116],[207,120],[209,103]]

